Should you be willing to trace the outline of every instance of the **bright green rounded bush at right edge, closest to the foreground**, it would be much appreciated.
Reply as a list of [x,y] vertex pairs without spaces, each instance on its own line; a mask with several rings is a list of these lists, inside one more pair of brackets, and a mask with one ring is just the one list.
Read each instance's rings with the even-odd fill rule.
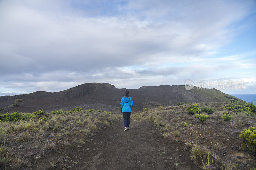
[[250,126],[248,130],[244,129],[239,137],[242,139],[241,148],[256,155],[256,128]]

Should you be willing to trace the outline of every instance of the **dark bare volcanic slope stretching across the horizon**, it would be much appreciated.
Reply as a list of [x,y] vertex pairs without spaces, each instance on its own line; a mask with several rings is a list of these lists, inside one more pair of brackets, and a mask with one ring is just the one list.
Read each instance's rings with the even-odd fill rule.
[[[93,108],[109,111],[118,111],[121,97],[124,96],[125,88],[117,89],[108,83],[85,83],[60,92],[37,91],[30,94],[15,96],[0,96],[0,108],[7,108],[3,112],[20,110],[33,112],[36,109],[46,111],[65,109],[75,106],[83,109]],[[201,102],[228,102],[230,99],[241,100],[235,96],[225,94],[217,89],[191,89],[185,86],[161,85],[142,86],[139,89],[128,89],[133,99],[133,111],[142,108],[155,107],[158,105],[172,106],[178,102],[201,103]],[[16,98],[23,99],[17,108],[8,108]]]

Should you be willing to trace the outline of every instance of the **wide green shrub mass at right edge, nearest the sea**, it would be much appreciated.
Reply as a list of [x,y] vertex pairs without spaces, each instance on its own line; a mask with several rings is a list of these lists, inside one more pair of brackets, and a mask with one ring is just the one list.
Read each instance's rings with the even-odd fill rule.
[[227,110],[236,112],[236,113],[246,113],[247,115],[255,115],[256,114],[256,107],[251,102],[238,102],[238,101],[231,101],[231,103],[225,105],[224,107]]

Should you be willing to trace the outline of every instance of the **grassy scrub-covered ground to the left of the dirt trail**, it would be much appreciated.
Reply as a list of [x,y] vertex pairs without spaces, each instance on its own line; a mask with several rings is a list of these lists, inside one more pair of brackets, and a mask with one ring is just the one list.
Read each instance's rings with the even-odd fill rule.
[[[0,169],[28,169],[52,152],[79,150],[96,131],[117,120],[110,112],[82,111],[78,107],[53,112],[36,110],[23,114],[16,111],[0,115]],[[36,154],[31,152],[31,155],[28,150]],[[69,169],[77,164],[65,160],[53,158],[48,166]]]

